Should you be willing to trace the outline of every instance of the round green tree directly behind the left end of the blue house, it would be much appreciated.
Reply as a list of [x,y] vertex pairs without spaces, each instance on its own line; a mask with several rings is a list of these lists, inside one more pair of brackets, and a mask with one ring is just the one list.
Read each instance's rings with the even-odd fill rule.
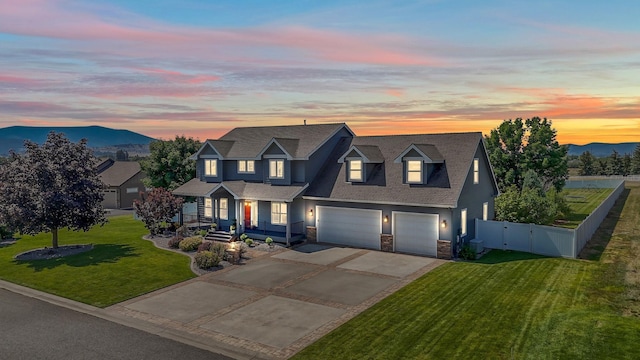
[[185,136],[152,142],[149,145],[151,155],[140,163],[147,174],[144,184],[173,190],[193,179],[196,176],[196,164],[189,160],[189,156],[198,151],[200,145],[200,141]]

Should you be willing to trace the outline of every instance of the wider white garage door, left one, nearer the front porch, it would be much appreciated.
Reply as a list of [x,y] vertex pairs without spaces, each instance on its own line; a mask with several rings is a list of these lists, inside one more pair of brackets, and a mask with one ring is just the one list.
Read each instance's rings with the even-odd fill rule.
[[379,250],[382,211],[317,206],[316,229],[319,242]]

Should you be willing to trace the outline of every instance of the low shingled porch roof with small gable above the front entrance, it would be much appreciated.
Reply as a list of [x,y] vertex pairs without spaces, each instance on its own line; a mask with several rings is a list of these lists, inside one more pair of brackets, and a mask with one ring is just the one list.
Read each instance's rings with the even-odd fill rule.
[[211,196],[211,194],[219,189],[225,189],[238,200],[292,202],[307,186],[308,184],[279,186],[241,180],[207,183],[200,179],[191,179],[184,185],[173,190],[173,194],[180,196]]

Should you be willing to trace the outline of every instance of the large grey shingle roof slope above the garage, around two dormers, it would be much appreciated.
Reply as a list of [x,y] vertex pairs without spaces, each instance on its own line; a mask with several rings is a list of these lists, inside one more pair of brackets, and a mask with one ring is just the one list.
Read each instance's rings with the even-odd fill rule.
[[[358,136],[353,139],[343,139],[336,149],[337,155],[329,159],[328,166],[318,174],[304,197],[345,202],[455,208],[481,142],[482,134],[479,132]],[[416,147],[423,152],[429,151],[429,155],[434,157],[439,154],[445,161],[444,166],[436,167],[425,185],[403,183],[403,164],[394,162],[413,144],[430,145],[427,147],[416,145]],[[366,183],[351,184],[345,181],[346,166],[338,160],[351,147],[360,148],[362,145],[377,146],[384,156],[384,163],[376,165]],[[433,149],[438,153],[431,152]]]

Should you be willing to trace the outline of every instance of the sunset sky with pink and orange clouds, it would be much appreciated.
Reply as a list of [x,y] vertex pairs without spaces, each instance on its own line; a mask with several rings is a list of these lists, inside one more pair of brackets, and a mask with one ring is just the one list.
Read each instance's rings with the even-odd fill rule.
[[640,141],[637,1],[0,0],[0,127]]

